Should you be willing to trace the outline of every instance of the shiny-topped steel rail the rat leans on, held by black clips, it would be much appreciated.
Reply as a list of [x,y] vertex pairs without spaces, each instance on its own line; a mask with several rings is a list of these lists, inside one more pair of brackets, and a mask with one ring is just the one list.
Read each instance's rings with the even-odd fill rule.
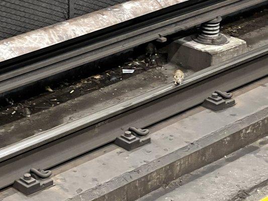
[[146,128],[199,105],[215,89],[229,91],[268,75],[268,45],[126,102],[0,149],[0,188],[30,168],[47,169],[113,142],[130,126]]

